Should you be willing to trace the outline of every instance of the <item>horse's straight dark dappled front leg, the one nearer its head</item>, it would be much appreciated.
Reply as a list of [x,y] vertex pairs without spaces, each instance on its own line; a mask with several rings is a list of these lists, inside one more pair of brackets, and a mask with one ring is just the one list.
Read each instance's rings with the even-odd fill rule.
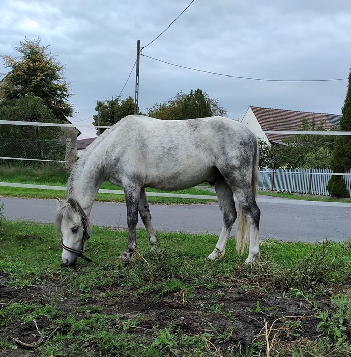
[[121,258],[125,262],[129,262],[136,251],[136,225],[138,223],[140,187],[130,183],[123,183],[123,190],[127,206],[128,245]]

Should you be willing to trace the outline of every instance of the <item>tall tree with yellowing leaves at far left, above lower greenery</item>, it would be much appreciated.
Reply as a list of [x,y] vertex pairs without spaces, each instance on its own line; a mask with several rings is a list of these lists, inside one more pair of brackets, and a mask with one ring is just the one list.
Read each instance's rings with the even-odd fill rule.
[[63,75],[64,66],[48,52],[48,47],[41,46],[39,37],[34,41],[25,38],[16,48],[19,57],[2,56],[10,72],[0,86],[0,103],[11,105],[12,100],[32,93],[43,100],[55,118],[64,122],[74,113],[72,105],[68,103],[72,94]]

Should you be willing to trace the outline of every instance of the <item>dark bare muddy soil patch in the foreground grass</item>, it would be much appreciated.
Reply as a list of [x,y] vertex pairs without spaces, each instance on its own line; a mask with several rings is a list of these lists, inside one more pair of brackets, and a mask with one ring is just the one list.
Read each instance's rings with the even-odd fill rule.
[[[43,285],[15,288],[7,284],[6,276],[0,275],[0,309],[13,302],[38,302],[44,305],[55,296],[58,310],[67,314],[75,312],[77,320],[87,316],[86,312],[77,313],[79,308],[96,306],[101,307],[99,313],[118,314],[122,321],[133,320],[142,313],[143,319],[137,325],[142,328],[135,328],[130,333],[142,334],[146,338],[154,336],[152,329],[155,326],[157,329],[165,328],[170,321],[173,321],[174,327],[177,327],[180,333],[190,336],[206,331],[213,333],[214,329],[218,334],[223,334],[234,326],[233,333],[227,340],[221,342],[220,338],[218,339],[222,355],[226,355],[225,351],[229,345],[240,343],[241,346],[251,346],[254,341],[264,342],[262,328],[265,322],[270,328],[275,321],[271,337],[278,333],[277,338],[287,343],[299,339],[316,340],[319,337],[316,326],[320,320],[315,317],[311,304],[301,298],[289,297],[284,291],[262,292],[254,284],[246,284],[215,289],[198,288],[194,290],[192,298],[187,298],[182,291],[161,296],[134,296],[134,292],[132,289],[118,286],[100,288],[91,291],[89,300],[86,301],[78,293],[68,293],[67,287],[54,279]],[[317,303],[321,309],[328,304],[327,299],[323,298],[319,298]],[[58,317],[60,316],[56,318]],[[279,318],[282,319],[277,320]],[[294,327],[286,327],[286,321],[290,321],[290,325],[298,321],[298,325],[295,325],[299,326],[298,336],[292,333]],[[39,329],[52,330],[49,319],[37,317],[36,322]],[[64,334],[65,328],[63,325],[59,332]],[[33,321],[23,323],[20,319],[13,319],[1,327],[0,339],[3,338],[18,338],[22,342],[32,344],[38,340],[38,333]],[[87,348],[90,348],[89,345]],[[33,349],[18,345],[13,351],[0,351],[0,356],[5,355],[39,354]]]

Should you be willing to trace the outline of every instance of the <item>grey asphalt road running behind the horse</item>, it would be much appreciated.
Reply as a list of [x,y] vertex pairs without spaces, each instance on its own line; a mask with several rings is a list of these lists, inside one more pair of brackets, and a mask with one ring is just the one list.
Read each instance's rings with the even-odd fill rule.
[[[313,206],[306,205],[306,201],[294,201],[294,204],[289,205],[289,200],[275,200],[275,203],[263,200],[258,203],[261,209],[261,239],[316,242],[326,237],[334,241],[351,237],[351,205]],[[4,216],[8,220],[42,223],[53,223],[55,220],[55,200],[2,197],[1,201],[4,203]],[[221,231],[218,203],[150,205],[150,211],[158,231],[208,232],[217,235]],[[99,226],[127,228],[126,206],[123,203],[95,202],[91,222]],[[143,226],[140,217],[138,226]],[[235,227],[232,235],[235,235]]]

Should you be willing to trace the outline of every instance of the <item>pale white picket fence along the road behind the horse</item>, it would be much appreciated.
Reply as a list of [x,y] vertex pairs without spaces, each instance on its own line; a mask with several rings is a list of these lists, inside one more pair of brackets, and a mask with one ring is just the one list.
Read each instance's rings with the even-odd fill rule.
[[[329,169],[277,169],[259,170],[260,190],[305,193],[329,196],[327,184],[333,171]],[[351,193],[351,170],[342,176]]]

